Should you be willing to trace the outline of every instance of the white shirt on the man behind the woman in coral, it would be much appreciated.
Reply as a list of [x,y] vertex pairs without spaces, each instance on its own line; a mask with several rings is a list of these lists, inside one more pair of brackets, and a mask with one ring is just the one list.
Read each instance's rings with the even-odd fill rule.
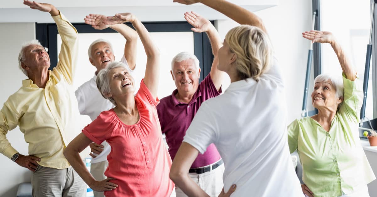
[[[121,58],[122,63],[127,64],[126,58]],[[132,71],[132,77],[134,78],[135,82],[141,81],[139,76],[134,76],[135,69]],[[105,99],[100,91],[97,88],[97,75],[94,75],[89,81],[83,83],[78,89],[75,91],[76,99],[78,102],[78,109],[81,115],[89,115],[90,119],[93,121],[100,115],[101,112],[114,108],[114,105],[107,99]],[[136,86],[135,83],[135,92],[139,89],[139,85]],[[107,155],[111,151],[110,145],[104,141],[102,143],[104,146],[103,151],[101,154],[96,155],[96,158],[92,158],[90,163],[98,163],[107,160]]]

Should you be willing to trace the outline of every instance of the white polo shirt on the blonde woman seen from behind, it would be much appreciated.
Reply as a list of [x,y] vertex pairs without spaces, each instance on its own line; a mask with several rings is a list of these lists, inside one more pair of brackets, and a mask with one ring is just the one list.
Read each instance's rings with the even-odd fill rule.
[[214,143],[222,159],[224,191],[232,196],[304,196],[287,142],[284,83],[273,58],[270,71],[230,84],[224,94],[205,101],[183,142],[205,152]]

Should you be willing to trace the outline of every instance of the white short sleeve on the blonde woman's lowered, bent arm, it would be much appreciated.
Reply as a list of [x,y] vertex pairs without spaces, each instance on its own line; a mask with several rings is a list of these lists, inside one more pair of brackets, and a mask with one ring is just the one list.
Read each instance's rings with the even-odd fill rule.
[[207,102],[204,102],[187,129],[183,142],[189,143],[204,154],[211,143],[216,143],[218,131],[217,121],[211,114],[211,108]]

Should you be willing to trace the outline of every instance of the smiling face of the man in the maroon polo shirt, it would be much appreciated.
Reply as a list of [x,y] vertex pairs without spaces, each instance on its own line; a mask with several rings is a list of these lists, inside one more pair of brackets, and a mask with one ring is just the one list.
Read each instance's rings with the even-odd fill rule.
[[175,62],[172,74],[179,94],[194,94],[198,89],[200,68],[197,70],[195,61],[191,58]]

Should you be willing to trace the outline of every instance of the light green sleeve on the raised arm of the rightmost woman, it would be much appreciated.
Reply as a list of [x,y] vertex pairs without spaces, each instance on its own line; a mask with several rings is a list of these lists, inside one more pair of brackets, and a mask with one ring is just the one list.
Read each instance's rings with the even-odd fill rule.
[[343,73],[344,97],[339,112],[348,115],[349,120],[359,122],[360,109],[363,104],[363,89],[359,83],[359,77],[354,81],[349,80]]

